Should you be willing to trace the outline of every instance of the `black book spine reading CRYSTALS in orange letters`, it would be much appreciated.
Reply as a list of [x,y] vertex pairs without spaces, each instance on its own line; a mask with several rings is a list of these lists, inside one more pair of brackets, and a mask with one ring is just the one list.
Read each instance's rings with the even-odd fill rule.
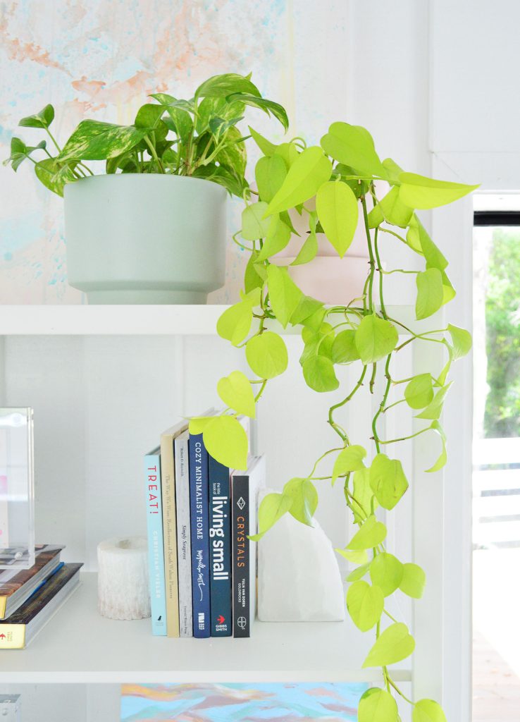
[[[233,636],[251,636],[250,479],[234,476],[233,505]],[[253,532],[254,533],[254,532]]]

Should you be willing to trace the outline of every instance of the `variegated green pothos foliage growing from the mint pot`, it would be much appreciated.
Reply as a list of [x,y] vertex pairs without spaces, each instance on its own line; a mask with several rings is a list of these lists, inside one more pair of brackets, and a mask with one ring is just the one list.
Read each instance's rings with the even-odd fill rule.
[[[14,136],[4,165],[10,163],[16,171],[30,160],[41,183],[58,196],[63,196],[66,183],[94,175],[89,161],[102,160],[105,173],[188,175],[219,183],[242,197],[248,188],[244,178],[247,154],[246,137],[238,126],[246,107],[260,108],[284,129],[288,126],[284,108],[262,97],[250,75],[215,75],[190,100],[164,92],[150,97],[154,102],[139,108],[131,126],[84,120],[63,148],[50,131],[54,108],[45,105],[40,113],[22,118],[19,125],[45,131],[53,152],[46,140],[28,146]],[[38,160],[41,155],[43,159]]]

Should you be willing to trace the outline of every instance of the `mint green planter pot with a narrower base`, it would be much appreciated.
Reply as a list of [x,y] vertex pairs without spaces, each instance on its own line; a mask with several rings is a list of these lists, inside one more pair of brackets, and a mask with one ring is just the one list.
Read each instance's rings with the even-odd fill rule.
[[179,175],[65,187],[69,284],[89,303],[206,303],[225,280],[226,191]]

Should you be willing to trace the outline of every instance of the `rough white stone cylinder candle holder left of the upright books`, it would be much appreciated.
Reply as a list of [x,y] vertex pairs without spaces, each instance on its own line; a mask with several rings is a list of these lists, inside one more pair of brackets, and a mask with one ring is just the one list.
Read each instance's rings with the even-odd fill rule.
[[98,609],[109,619],[149,617],[148,544],[138,536],[97,545]]

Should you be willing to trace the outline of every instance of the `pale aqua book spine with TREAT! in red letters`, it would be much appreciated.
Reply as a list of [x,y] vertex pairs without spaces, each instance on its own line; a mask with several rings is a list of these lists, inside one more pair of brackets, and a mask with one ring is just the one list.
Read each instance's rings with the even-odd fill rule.
[[144,457],[146,519],[150,575],[151,631],[165,637],[166,587],[164,584],[164,541],[162,536],[161,455],[159,450]]

